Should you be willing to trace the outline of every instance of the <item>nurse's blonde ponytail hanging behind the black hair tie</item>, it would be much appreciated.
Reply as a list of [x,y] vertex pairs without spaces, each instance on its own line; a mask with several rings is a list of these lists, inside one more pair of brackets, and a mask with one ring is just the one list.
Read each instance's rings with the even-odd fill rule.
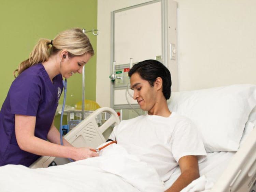
[[40,39],[38,43],[34,46],[32,52],[29,54],[29,58],[21,62],[18,66],[18,69],[13,71],[14,77],[17,77],[25,69],[31,67],[34,64],[47,61],[50,55],[50,44],[51,40],[44,38]]

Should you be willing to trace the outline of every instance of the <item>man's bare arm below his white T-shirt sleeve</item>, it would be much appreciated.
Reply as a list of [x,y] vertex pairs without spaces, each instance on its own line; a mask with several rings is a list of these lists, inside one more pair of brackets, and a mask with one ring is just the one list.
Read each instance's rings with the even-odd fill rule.
[[199,175],[197,156],[184,156],[179,160],[181,175],[166,192],[181,191]]

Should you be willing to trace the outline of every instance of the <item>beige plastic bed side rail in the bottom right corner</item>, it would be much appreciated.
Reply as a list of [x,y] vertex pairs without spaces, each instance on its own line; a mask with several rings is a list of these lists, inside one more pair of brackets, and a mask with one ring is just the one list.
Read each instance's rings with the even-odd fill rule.
[[256,181],[256,128],[252,130],[211,192],[246,192]]

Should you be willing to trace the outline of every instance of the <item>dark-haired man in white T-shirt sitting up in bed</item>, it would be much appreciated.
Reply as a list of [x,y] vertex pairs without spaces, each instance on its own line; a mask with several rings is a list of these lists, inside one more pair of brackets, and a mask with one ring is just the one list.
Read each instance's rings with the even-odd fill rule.
[[181,191],[199,177],[198,161],[206,156],[203,142],[188,118],[168,109],[171,74],[162,63],[139,62],[128,75],[133,99],[147,114],[122,121],[109,139],[152,165],[162,181],[179,165],[181,175],[167,191]]

